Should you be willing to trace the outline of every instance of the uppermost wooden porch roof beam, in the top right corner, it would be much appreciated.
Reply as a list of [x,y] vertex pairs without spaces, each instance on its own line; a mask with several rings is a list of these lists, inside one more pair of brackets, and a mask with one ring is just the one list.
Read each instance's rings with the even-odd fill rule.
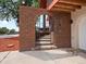
[[59,2],[75,4],[75,5],[86,5],[86,0],[59,0]]

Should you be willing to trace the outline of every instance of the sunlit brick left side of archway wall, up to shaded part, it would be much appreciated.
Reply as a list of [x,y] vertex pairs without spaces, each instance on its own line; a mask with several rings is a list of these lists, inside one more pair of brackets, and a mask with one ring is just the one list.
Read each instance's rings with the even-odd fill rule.
[[24,5],[20,8],[20,51],[35,48],[35,24],[38,16],[46,12],[44,9]]

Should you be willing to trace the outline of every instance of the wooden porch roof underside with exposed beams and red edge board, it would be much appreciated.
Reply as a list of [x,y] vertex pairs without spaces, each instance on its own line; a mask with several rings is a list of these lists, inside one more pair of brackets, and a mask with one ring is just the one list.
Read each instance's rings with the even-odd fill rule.
[[86,0],[53,0],[47,8],[49,11],[72,12],[86,5]]

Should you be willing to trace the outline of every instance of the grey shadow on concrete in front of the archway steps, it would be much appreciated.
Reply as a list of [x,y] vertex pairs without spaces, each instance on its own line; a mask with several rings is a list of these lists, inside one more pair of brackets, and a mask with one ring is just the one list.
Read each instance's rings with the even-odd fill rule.
[[39,59],[39,60],[44,60],[44,61],[53,61],[53,60],[58,60],[58,59],[66,59],[66,57],[72,57],[72,56],[75,56],[74,54],[72,53],[60,53],[60,52],[57,52],[53,53],[53,51],[25,51],[25,52],[22,52],[24,54],[27,54],[27,55],[30,55],[33,57],[36,57],[36,59]]

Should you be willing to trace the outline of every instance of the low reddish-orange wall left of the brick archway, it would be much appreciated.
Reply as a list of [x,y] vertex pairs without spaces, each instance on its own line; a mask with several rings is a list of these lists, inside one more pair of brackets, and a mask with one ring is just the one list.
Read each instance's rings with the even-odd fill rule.
[[0,52],[19,50],[19,37],[0,39]]

